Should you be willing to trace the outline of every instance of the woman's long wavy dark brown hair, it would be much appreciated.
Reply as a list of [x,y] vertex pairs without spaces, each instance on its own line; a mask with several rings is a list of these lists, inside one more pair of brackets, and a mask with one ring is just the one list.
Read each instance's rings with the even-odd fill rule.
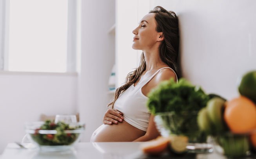
[[[167,11],[163,7],[156,6],[149,13],[154,13],[156,20],[156,31],[163,32],[164,40],[159,46],[160,58],[166,63],[170,68],[172,68],[178,78],[178,53],[179,53],[179,27],[178,27],[178,18],[173,11]],[[121,93],[128,89],[131,85],[138,82],[140,77],[146,69],[145,57],[142,52],[140,58],[140,66],[134,71],[128,73],[125,84],[116,89],[114,94],[114,100],[108,105],[113,108],[114,103]]]

